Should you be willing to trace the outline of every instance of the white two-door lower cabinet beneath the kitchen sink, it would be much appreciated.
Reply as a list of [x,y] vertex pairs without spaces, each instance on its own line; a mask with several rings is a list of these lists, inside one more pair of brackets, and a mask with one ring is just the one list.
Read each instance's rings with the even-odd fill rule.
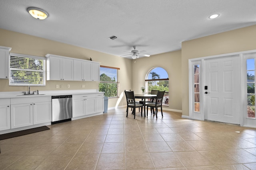
[[11,129],[50,122],[51,97],[12,98],[10,115]]

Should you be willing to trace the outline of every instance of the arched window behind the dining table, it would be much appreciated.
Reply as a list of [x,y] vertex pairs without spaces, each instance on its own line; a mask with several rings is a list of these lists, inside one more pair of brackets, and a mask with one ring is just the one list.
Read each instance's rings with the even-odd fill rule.
[[169,77],[164,68],[152,68],[146,75],[145,87],[147,94],[150,94],[151,90],[165,90],[163,105],[169,106]]

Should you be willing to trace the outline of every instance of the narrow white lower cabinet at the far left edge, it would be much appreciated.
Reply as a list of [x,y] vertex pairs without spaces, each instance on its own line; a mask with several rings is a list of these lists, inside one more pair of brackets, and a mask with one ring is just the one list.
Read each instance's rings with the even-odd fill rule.
[[0,99],[0,131],[11,129],[10,99]]

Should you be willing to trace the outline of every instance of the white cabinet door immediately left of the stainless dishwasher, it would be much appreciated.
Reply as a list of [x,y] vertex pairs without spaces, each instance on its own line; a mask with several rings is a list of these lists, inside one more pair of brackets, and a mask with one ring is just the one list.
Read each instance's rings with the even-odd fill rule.
[[33,104],[33,123],[47,123],[52,121],[52,102],[38,102]]

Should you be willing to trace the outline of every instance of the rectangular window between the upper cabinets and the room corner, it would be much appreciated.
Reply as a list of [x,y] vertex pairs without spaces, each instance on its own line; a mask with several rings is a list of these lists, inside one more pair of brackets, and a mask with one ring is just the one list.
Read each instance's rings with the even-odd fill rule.
[[120,68],[100,66],[99,91],[105,92],[104,96],[119,97],[119,70]]

